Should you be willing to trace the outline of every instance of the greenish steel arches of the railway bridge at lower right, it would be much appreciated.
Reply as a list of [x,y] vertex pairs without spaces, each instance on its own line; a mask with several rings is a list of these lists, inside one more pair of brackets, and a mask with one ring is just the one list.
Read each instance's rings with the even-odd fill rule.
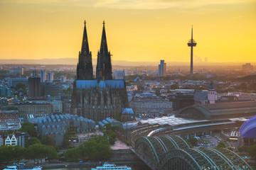
[[134,151],[151,169],[252,170],[228,149],[192,149],[178,136],[139,137]]

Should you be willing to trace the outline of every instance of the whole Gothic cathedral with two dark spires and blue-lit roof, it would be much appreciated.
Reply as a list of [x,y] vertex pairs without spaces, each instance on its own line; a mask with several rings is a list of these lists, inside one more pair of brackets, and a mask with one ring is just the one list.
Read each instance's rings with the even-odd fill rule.
[[96,77],[93,77],[92,70],[92,52],[89,50],[85,23],[77,76],[73,84],[71,112],[95,121],[116,118],[116,115],[121,114],[122,108],[127,108],[128,98],[124,79],[112,79],[105,21],[103,21],[100,51],[97,52]]

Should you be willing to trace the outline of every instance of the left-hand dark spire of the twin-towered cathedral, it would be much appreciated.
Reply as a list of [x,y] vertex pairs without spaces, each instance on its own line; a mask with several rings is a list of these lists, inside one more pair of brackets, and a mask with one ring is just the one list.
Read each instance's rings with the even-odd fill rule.
[[79,60],[77,66],[77,79],[78,80],[91,80],[92,79],[92,52],[89,50],[86,22],[82,36],[82,48],[79,52]]

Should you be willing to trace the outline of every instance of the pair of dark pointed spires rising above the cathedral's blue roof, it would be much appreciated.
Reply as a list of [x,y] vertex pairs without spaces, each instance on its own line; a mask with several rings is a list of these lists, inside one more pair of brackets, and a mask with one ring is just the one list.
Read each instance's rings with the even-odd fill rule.
[[[86,24],[86,22],[85,22]],[[100,52],[97,53],[96,78],[98,81],[112,79],[111,55],[107,50],[107,38],[105,33],[105,21],[103,21],[102,40]],[[86,26],[82,37],[82,48],[79,52],[79,62],[77,67],[78,80],[92,79],[92,53],[89,50]]]

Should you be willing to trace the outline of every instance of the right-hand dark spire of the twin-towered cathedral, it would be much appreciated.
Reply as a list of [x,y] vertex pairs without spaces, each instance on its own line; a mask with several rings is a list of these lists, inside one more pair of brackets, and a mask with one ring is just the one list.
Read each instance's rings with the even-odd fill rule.
[[103,21],[102,40],[100,44],[100,52],[97,53],[97,80],[112,80],[111,55],[107,50],[107,38],[105,32],[105,21]]

